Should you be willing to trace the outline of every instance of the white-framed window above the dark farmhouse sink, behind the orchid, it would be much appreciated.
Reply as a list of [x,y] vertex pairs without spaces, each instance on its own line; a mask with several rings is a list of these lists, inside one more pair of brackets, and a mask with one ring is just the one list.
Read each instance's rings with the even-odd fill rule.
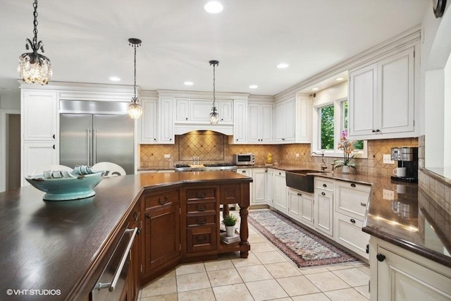
[[[342,130],[347,130],[349,104],[347,99],[338,99],[314,106],[316,118],[314,117],[312,152],[324,152],[325,156],[342,156],[338,149],[338,142]],[[366,158],[366,142],[358,140],[354,143],[355,157]]]

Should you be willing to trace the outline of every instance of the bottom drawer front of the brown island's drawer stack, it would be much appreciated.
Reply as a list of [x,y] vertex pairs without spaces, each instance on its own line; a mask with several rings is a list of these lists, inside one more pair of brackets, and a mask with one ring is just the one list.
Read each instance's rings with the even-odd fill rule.
[[216,250],[216,226],[187,229],[187,252],[206,252]]

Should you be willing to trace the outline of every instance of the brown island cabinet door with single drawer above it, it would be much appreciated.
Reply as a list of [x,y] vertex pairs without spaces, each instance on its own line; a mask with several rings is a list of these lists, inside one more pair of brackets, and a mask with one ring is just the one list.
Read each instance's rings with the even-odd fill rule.
[[180,259],[180,190],[142,195],[144,278],[158,274]]

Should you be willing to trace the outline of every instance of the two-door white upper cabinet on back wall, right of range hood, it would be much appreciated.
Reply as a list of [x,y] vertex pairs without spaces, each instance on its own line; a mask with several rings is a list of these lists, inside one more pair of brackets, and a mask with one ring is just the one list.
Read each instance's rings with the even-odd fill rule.
[[249,143],[273,142],[273,105],[249,103],[248,136]]

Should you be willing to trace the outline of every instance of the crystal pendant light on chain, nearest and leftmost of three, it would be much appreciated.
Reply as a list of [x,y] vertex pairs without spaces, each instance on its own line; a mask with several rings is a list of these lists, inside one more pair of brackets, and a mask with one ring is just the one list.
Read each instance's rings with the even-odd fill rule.
[[32,52],[27,52],[19,56],[19,66],[17,72],[20,78],[27,84],[41,84],[47,85],[52,75],[51,63],[47,56],[38,54],[37,51],[40,49],[44,53],[44,45],[42,41],[37,42],[37,0],[33,3],[33,33],[35,36],[33,40],[27,39],[27,44],[25,48],[27,50],[32,49]]

